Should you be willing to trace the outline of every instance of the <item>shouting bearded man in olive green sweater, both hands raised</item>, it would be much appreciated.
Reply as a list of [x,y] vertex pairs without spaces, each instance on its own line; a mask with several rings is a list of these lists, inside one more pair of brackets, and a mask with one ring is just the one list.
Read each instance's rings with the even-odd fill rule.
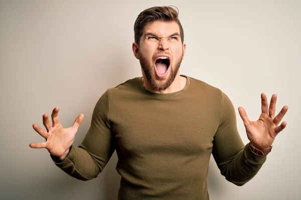
[[108,89],[95,105],[91,126],[79,147],[72,145],[78,126],[63,128],[59,108],[43,115],[45,142],[55,164],[69,175],[89,180],[104,168],[114,150],[121,175],[118,199],[209,199],[208,164],[211,153],[227,180],[249,181],[260,169],[275,136],[285,128],[283,106],[275,116],[276,95],[268,108],[261,94],[262,113],[250,121],[239,114],[250,142],[243,144],[234,107],[225,93],[201,80],[180,75],[185,55],[183,27],[172,7],[142,11],[134,24],[134,56],[142,77]]

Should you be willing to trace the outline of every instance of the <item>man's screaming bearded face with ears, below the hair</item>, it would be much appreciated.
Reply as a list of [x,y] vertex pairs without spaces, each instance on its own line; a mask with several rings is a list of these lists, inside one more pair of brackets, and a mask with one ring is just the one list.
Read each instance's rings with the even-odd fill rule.
[[133,51],[152,89],[165,90],[180,76],[185,48],[177,22],[157,20],[144,27],[140,44],[134,43]]

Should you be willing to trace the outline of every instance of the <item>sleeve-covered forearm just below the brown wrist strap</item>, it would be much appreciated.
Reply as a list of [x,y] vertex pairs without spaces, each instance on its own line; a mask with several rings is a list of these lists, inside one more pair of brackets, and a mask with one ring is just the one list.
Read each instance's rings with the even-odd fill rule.
[[256,175],[265,160],[266,155],[255,155],[250,150],[248,143],[236,155],[219,163],[219,168],[227,180],[241,186]]

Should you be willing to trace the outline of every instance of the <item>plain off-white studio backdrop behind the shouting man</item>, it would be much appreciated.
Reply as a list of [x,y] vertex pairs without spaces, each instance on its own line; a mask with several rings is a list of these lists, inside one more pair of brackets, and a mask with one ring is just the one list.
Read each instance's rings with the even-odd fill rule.
[[90,126],[94,105],[109,87],[141,76],[133,56],[133,24],[145,8],[180,10],[187,51],[180,72],[222,89],[248,142],[238,106],[251,120],[261,113],[260,93],[278,96],[287,127],[258,174],[239,187],[211,157],[211,199],[300,199],[300,0],[4,0],[0,3],[0,198],[116,199],[120,176],[114,153],[104,171],[77,180],[51,160],[32,128],[60,107],[64,127],[85,115],[74,141]]

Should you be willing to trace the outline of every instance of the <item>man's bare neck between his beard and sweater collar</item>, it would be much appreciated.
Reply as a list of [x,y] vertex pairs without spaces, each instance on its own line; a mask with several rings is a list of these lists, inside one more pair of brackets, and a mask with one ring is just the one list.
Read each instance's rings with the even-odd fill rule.
[[165,90],[154,90],[152,87],[150,87],[150,83],[146,79],[144,73],[142,73],[142,84],[148,91],[152,91],[155,93],[173,93],[176,91],[182,90],[187,83],[187,78],[180,75],[180,72],[178,71],[177,76],[175,77],[175,80],[172,82],[172,84]]

